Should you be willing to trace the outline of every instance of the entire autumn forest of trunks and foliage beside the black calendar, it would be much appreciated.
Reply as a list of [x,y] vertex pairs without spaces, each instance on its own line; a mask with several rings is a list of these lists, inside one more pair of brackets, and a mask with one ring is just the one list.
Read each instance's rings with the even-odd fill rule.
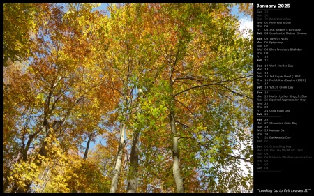
[[252,192],[252,5],[99,6],[3,4],[3,192]]

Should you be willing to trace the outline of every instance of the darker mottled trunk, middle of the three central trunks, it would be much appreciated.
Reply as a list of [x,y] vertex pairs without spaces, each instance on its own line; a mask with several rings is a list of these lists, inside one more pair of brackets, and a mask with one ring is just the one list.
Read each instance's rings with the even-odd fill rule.
[[130,167],[128,173],[128,188],[127,193],[136,193],[137,190],[137,171],[138,171],[138,143],[140,139],[140,132],[135,128],[133,132],[133,141],[130,152]]

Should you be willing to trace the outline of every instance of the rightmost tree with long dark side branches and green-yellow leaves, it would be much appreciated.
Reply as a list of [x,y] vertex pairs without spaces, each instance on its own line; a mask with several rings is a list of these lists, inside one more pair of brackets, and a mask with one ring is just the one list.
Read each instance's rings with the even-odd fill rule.
[[[151,13],[154,15],[149,18],[151,19],[149,22],[154,24],[151,28],[157,32],[159,40],[157,44],[160,45],[161,56],[163,56],[156,63],[161,70],[156,85],[163,85],[161,88],[164,90],[164,95],[159,95],[159,98],[163,97],[169,112],[170,130],[173,137],[173,174],[177,191],[184,192],[184,182],[179,169],[179,139],[181,141],[196,140],[195,137],[198,137],[199,140],[212,142],[209,138],[213,136],[206,121],[214,116],[207,114],[208,119],[201,119],[200,116],[204,115],[203,112],[208,111],[209,108],[214,107],[213,103],[219,103],[219,101],[225,103],[223,98],[232,101],[234,110],[238,110],[238,106],[236,106],[238,101],[244,104],[241,112],[242,110],[251,112],[246,107],[252,105],[252,88],[248,85],[251,84],[253,77],[251,73],[252,39],[241,36],[239,22],[237,22],[237,18],[230,15],[228,5],[156,4],[151,5]],[[233,91],[232,89],[237,84],[240,86],[237,87],[237,91]],[[158,97],[157,95],[154,96]],[[202,99],[197,101],[195,98]],[[190,106],[188,102],[190,102]],[[192,105],[194,108],[189,108]],[[218,111],[232,111],[230,108],[232,107],[229,105],[222,110],[218,108]],[[239,116],[239,121],[241,121],[241,117]],[[249,125],[250,123],[251,119],[244,121],[244,124]],[[181,126],[181,133],[177,132],[177,126]],[[227,125],[221,126],[223,129],[227,129],[227,127]],[[235,127],[232,128],[234,131],[237,130]],[[244,127],[242,130],[246,128]],[[221,135],[225,134],[223,130],[217,131]],[[192,134],[186,137],[187,133]],[[159,136],[159,134],[157,135]],[[196,158],[200,155],[200,150],[204,151],[202,149],[204,147],[199,146],[199,141],[194,142],[197,144],[196,149],[199,149],[194,154],[194,158]],[[194,142],[188,141],[188,144],[184,142],[183,146]],[[225,145],[231,145],[230,143],[226,142]],[[208,154],[209,151],[216,150],[207,147],[205,152]],[[231,154],[232,150],[222,153]],[[248,153],[252,153],[252,151]],[[214,154],[220,156],[217,151]],[[231,155],[230,157],[234,158]],[[195,162],[190,161],[190,163]],[[196,163],[200,163],[200,160]],[[197,167],[197,165],[195,166]]]

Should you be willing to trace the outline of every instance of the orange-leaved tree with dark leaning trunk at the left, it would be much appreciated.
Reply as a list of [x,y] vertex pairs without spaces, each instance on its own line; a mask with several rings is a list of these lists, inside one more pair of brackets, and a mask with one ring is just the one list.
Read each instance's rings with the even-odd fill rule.
[[[84,18],[84,14],[90,14],[92,6],[81,7],[77,12]],[[19,133],[17,138],[21,141],[19,145],[22,146],[17,163],[28,162],[32,153],[38,153],[31,162],[36,163],[36,167],[40,167],[43,163],[40,161],[40,156],[47,157],[47,148],[50,148],[50,142],[46,139],[50,137],[51,132],[54,132],[54,137],[60,140],[65,151],[70,148],[68,146],[70,140],[80,139],[82,135],[94,133],[95,130],[102,133],[103,130],[98,127],[98,122],[101,116],[112,108],[110,105],[114,99],[105,99],[112,96],[110,91],[106,91],[103,86],[93,84],[93,82],[97,83],[100,76],[95,68],[89,67],[91,58],[87,58],[87,55],[92,54],[92,51],[89,53],[85,51],[89,43],[86,34],[89,33],[89,38],[92,38],[91,33],[94,31],[91,31],[92,27],[87,29],[84,21],[81,26],[71,29],[69,25],[71,17],[67,18],[63,9],[62,5],[45,4],[45,20],[38,24],[40,26],[38,35],[32,38],[34,44],[30,47],[35,56],[27,63],[22,62],[24,67],[20,70],[21,73],[7,75],[8,93],[4,96],[10,97],[12,96],[10,93],[16,93],[12,91],[15,85],[22,90],[21,109],[18,110],[24,110],[20,115],[25,121],[20,121],[21,125],[15,124]],[[82,49],[84,55],[77,55],[79,49]],[[15,78],[19,75],[25,77],[20,84]],[[96,93],[93,93],[93,89]],[[103,100],[106,102],[100,106]],[[92,110],[86,110],[87,107]],[[76,120],[75,115],[89,116],[84,126],[80,126],[80,121]],[[63,136],[67,139],[62,138]],[[7,135],[5,137],[8,138]],[[30,151],[31,148],[35,151]],[[6,170],[6,173],[9,175],[10,169]],[[8,188],[7,186],[5,188]],[[20,185],[15,181],[10,191],[27,191],[30,186],[30,178]]]

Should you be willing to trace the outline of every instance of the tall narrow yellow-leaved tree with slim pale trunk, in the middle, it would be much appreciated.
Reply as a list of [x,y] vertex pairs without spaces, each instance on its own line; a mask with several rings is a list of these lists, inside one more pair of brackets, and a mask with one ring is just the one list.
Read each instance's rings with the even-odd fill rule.
[[[121,96],[117,110],[120,143],[117,149],[117,161],[110,192],[117,191],[122,159],[124,152],[128,149],[124,149],[124,145],[128,143],[125,138],[129,136],[133,137],[133,147],[130,150],[130,168],[136,165],[137,158],[134,158],[133,153],[135,151],[134,146],[138,144],[136,139],[138,133],[136,133],[137,128],[135,128],[132,119],[134,119],[133,115],[139,104],[137,93],[140,88],[140,81],[147,71],[146,67],[150,66],[149,63],[154,61],[154,58],[157,58],[153,52],[154,48],[149,47],[147,41],[149,31],[142,31],[143,25],[148,25],[145,24],[142,9],[143,6],[135,4],[110,7],[110,20],[105,23],[107,26],[103,25],[103,29],[101,29],[103,31],[100,32],[102,37],[100,48],[102,50],[99,53],[99,59],[101,59],[99,66],[103,69],[104,75],[111,77],[111,84],[107,85],[111,86],[112,90],[119,92]],[[121,86],[117,84],[121,84]],[[128,170],[135,171],[134,169]],[[136,179],[136,177],[129,176],[128,179]],[[132,191],[135,192],[136,188],[133,188]]]

